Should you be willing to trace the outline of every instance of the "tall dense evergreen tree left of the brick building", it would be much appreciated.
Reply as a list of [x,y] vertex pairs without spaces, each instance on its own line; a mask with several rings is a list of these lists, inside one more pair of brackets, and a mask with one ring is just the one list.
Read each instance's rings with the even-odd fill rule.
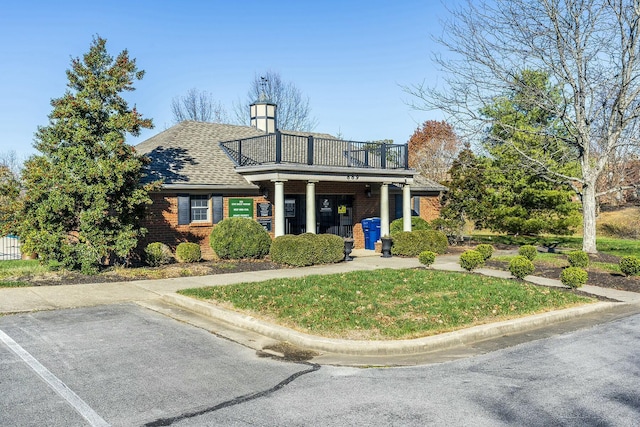
[[36,133],[40,154],[25,164],[24,250],[93,272],[136,247],[155,184],[141,184],[145,158],[125,136],[139,135],[152,122],[129,108],[121,93],[134,90],[143,76],[126,50],[114,59],[100,37],[82,59],[72,59],[68,89],[51,101],[49,124]]

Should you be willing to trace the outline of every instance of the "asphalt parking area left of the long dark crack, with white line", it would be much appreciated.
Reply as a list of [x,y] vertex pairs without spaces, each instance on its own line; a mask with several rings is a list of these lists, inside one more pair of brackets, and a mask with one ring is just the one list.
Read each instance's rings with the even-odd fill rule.
[[162,425],[309,370],[135,304],[3,316],[0,331],[2,426]]

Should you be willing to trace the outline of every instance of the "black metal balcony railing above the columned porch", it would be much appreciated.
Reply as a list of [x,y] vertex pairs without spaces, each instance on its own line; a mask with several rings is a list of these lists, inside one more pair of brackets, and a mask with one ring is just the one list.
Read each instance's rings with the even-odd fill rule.
[[409,169],[407,144],[355,142],[276,132],[221,142],[236,166],[300,164],[373,169]]

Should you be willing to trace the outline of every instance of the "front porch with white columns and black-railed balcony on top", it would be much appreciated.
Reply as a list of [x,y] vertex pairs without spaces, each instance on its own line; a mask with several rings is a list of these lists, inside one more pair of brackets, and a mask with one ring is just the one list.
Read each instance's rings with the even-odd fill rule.
[[220,146],[235,171],[273,203],[274,237],[302,232],[356,237],[357,224],[371,216],[380,217],[381,235],[388,235],[391,206],[398,217],[390,188],[401,193],[403,229],[411,230],[416,171],[408,167],[406,144],[275,132]]

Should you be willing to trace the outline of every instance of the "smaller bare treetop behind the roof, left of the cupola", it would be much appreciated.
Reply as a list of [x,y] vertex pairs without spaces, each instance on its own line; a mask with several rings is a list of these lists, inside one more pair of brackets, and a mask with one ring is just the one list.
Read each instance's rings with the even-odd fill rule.
[[207,91],[189,89],[186,95],[177,96],[171,100],[171,112],[175,123],[184,120],[198,122],[224,123],[227,112],[220,102]]

